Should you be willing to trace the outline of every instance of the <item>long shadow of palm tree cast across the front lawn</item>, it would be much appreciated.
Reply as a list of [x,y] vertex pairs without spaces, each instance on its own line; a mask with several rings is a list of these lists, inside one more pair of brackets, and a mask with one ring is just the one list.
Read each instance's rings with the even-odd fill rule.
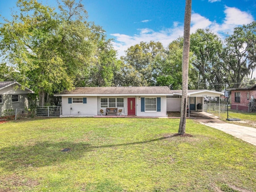
[[[68,160],[78,160],[82,158],[85,153],[99,148],[146,144],[175,136],[176,135],[171,135],[140,142],[109,144],[102,146],[92,146],[85,142],[75,143],[48,141],[36,142],[34,145],[9,146],[0,150],[0,166],[10,171],[28,167],[50,166],[66,162]],[[61,150],[64,148],[70,148],[70,150],[68,152],[62,152]]]

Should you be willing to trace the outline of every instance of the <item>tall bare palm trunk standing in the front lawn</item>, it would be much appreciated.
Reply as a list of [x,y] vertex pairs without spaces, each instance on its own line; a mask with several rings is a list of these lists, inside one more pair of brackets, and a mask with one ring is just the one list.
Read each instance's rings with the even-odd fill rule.
[[180,112],[179,135],[186,132],[187,102],[188,102],[188,62],[190,48],[190,21],[191,21],[192,0],[186,0],[184,17],[184,42],[182,56],[182,101]]

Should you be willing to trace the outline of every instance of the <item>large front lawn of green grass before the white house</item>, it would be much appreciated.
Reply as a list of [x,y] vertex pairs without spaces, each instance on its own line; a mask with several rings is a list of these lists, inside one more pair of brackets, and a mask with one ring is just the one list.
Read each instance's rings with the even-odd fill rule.
[[[256,191],[256,146],[193,120],[49,118],[0,124],[0,192]],[[69,152],[61,152],[70,148]]]

